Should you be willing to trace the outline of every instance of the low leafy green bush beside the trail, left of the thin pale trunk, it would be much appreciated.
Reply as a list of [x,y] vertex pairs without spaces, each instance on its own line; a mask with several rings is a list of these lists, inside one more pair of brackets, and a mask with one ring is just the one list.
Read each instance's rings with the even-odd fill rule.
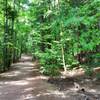
[[41,72],[46,75],[59,75],[59,61],[57,52],[46,50],[40,55]]

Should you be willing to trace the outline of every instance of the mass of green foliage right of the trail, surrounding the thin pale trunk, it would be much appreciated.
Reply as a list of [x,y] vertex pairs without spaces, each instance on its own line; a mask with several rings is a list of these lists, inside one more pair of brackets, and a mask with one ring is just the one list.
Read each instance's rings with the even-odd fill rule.
[[[33,51],[37,52],[36,55],[39,54],[42,72],[52,71],[53,74],[53,70],[63,67],[64,62],[69,69],[78,67],[80,60],[76,56],[82,56],[81,52],[95,52],[96,46],[100,45],[100,2],[77,2],[33,2],[34,20],[30,20],[34,21],[33,26],[37,31],[33,41],[38,48]],[[86,68],[87,73],[91,73],[88,69],[90,68]]]

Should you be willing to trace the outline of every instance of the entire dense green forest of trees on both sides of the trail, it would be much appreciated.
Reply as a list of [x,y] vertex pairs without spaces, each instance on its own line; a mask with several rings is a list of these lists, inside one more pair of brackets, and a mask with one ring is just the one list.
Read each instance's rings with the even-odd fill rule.
[[0,0],[0,71],[32,54],[40,72],[100,67],[100,0]]

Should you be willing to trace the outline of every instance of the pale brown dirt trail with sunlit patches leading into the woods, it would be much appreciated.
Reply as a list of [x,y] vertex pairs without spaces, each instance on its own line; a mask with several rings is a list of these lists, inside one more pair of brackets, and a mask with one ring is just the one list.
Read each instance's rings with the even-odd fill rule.
[[31,59],[23,55],[20,62],[12,65],[12,70],[0,74],[0,100],[88,100],[82,94],[73,94],[73,83],[68,91],[59,91],[59,87],[40,75],[36,62]]

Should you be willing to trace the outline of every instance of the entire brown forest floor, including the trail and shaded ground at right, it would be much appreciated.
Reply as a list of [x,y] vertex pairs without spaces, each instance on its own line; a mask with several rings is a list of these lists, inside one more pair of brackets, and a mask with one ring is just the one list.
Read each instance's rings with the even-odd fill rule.
[[9,72],[0,74],[0,100],[100,100],[100,81],[43,76],[37,62],[23,55]]

